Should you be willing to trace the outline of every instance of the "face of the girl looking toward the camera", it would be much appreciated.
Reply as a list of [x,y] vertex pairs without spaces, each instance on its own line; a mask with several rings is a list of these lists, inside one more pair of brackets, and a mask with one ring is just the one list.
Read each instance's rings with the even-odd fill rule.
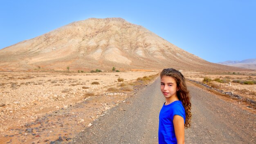
[[172,96],[177,96],[177,83],[175,79],[171,76],[162,76],[161,78],[161,91],[164,97],[169,98]]

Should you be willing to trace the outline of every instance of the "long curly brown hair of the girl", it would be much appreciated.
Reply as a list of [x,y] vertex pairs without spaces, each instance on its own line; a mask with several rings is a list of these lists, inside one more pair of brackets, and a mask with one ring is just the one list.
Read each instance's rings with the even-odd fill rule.
[[175,79],[177,83],[177,88],[179,89],[177,91],[177,97],[182,102],[182,105],[184,106],[185,113],[186,113],[186,120],[185,120],[185,128],[190,127],[191,122],[191,96],[189,95],[189,90],[186,87],[186,81],[182,73],[180,71],[177,71],[176,69],[163,69],[163,71],[160,73],[160,77],[163,76],[170,76]]

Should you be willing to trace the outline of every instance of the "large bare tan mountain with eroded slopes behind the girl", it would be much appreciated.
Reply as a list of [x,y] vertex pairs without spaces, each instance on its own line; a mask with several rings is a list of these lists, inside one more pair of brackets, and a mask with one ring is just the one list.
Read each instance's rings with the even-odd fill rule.
[[111,70],[167,67],[188,71],[236,71],[207,62],[142,26],[122,18],[72,22],[0,50],[0,71]]

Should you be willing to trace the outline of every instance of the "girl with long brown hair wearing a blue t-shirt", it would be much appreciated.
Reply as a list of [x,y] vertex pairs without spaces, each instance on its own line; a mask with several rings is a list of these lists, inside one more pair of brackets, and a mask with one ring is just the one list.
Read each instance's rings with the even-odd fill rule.
[[175,69],[160,73],[161,91],[165,97],[159,114],[159,144],[185,144],[185,130],[191,120],[191,102],[185,78]]

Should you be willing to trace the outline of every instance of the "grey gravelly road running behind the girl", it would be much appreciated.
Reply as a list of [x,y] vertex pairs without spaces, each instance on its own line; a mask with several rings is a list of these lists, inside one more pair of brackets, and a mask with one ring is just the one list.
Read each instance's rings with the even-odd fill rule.
[[[111,109],[69,144],[157,144],[164,104],[159,78]],[[256,144],[256,115],[191,84],[192,124],[186,144]]]

